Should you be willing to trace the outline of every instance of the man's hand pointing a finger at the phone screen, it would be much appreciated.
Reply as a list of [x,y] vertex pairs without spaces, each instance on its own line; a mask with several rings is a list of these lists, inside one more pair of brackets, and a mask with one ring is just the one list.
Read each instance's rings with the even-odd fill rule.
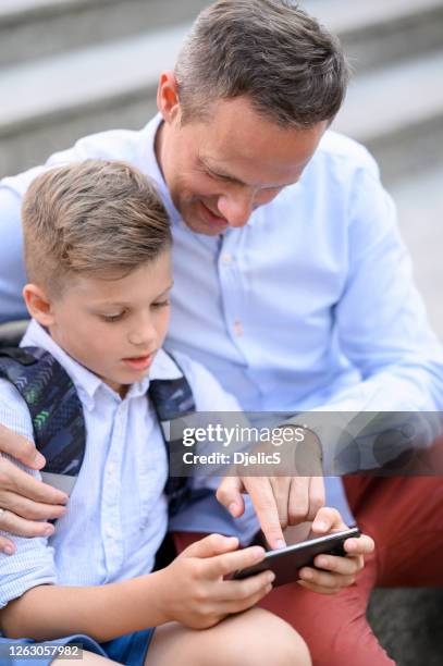
[[313,520],[324,505],[322,477],[225,477],[217,498],[238,518],[245,510],[243,493],[249,495],[271,548],[285,545],[284,528]]

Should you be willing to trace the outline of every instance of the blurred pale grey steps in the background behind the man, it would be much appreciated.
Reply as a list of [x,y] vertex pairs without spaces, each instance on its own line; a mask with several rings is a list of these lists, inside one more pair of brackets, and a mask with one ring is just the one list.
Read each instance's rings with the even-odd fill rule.
[[[76,138],[137,128],[207,0],[0,0],[0,176]],[[443,0],[305,0],[354,79],[335,127],[376,156],[443,338]],[[442,282],[440,282],[442,281]]]

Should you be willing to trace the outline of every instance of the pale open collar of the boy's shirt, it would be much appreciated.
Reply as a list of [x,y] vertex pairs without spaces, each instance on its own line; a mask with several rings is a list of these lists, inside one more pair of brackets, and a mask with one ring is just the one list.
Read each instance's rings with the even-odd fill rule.
[[[64,351],[64,349],[62,349],[52,340],[49,333],[35,319],[30,320],[20,346],[40,347],[46,351],[49,351],[49,354],[51,354],[54,359],[59,361],[59,363],[71,377],[78,396],[87,409],[94,409],[96,394],[100,387],[103,391],[112,394],[116,399],[122,399],[115,393],[115,391],[108,386],[108,384],[106,384],[99,377],[94,374],[94,372],[78,363],[69,354],[66,354],[66,351]],[[172,359],[163,351],[163,349],[159,349],[156,358],[152,361],[149,375],[145,377],[139,382],[131,384],[130,391],[124,399],[145,395],[149,388],[150,380],[172,380],[179,379],[180,377],[182,377],[182,373]]]

